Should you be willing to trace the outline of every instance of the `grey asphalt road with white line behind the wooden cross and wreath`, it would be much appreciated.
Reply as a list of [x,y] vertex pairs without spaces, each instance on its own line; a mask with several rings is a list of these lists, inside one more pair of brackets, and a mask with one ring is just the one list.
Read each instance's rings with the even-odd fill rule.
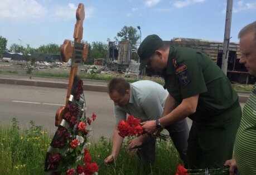
[[[15,117],[20,127],[32,120],[37,126],[54,133],[55,113],[65,104],[66,89],[0,84],[0,118],[6,125]],[[97,116],[91,124],[91,138],[110,137],[113,132],[113,102],[106,92],[84,91],[86,116]]]

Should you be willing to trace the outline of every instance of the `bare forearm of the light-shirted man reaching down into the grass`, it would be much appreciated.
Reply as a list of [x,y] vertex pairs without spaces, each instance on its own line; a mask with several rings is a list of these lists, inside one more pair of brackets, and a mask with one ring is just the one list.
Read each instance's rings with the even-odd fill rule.
[[110,163],[117,159],[118,153],[120,151],[124,139],[123,137],[119,136],[118,132],[118,128],[117,126],[115,126],[112,136],[112,152],[107,158],[104,159],[105,163]]

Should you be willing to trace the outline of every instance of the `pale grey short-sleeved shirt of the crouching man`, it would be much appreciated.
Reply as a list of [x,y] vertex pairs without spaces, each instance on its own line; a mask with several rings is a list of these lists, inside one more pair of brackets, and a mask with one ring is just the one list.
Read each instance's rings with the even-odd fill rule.
[[142,121],[160,118],[167,96],[168,92],[158,83],[147,80],[131,83],[128,104],[114,107],[115,124],[125,121],[127,114]]

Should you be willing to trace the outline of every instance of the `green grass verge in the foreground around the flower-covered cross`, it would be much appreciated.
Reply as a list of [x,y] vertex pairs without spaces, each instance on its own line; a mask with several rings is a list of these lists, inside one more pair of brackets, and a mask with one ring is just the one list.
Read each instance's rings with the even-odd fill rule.
[[[45,174],[45,156],[52,137],[32,121],[23,129],[15,118],[7,126],[0,123],[0,174]],[[108,167],[103,160],[111,152],[111,139],[102,137],[89,146],[92,162],[99,165],[99,174],[146,174],[137,156],[128,156],[126,146],[124,143],[117,161]],[[175,174],[178,163],[181,161],[173,144],[158,141],[156,162],[148,174]]]

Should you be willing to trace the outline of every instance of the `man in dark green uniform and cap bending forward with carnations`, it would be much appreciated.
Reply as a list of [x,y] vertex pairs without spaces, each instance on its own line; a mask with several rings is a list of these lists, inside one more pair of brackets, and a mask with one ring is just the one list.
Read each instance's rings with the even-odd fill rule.
[[[187,158],[190,169],[218,168],[233,154],[235,134],[241,118],[238,95],[221,69],[202,52],[191,48],[170,47],[153,34],[138,49],[140,69],[148,66],[162,73],[166,116],[143,122],[148,133],[186,117],[192,119]],[[178,106],[168,111],[168,106]],[[157,128],[156,128],[157,127]]]

